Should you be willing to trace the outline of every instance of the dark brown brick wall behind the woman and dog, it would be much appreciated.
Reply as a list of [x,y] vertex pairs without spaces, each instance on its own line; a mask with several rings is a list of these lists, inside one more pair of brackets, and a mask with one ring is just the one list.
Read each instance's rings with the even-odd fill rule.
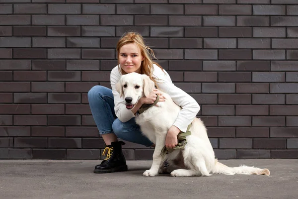
[[98,159],[86,94],[127,30],[201,105],[218,158],[298,158],[297,0],[0,0],[0,159]]

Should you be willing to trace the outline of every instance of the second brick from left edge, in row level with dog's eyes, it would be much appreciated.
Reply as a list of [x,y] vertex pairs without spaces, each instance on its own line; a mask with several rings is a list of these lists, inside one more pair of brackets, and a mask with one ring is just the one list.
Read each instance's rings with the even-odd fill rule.
[[32,82],[32,92],[64,92],[63,82]]

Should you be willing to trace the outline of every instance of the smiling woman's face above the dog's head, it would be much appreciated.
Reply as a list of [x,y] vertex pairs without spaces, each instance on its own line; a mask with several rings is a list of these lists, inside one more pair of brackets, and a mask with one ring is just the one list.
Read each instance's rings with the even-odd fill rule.
[[144,57],[136,43],[125,44],[120,48],[119,63],[126,73],[140,73],[143,60]]

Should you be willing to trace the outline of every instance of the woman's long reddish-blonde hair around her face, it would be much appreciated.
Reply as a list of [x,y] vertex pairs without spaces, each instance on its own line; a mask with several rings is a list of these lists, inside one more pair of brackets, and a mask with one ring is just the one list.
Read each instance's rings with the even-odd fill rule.
[[120,49],[125,44],[130,44],[130,43],[136,43],[141,50],[141,55],[144,57],[144,60],[141,63],[140,73],[149,76],[150,80],[152,80],[156,85],[156,78],[152,77],[153,64],[156,64],[159,68],[161,68],[162,71],[163,71],[163,68],[158,63],[152,61],[152,58],[156,59],[153,50],[149,48],[147,45],[145,45],[143,36],[137,32],[127,32],[121,37],[121,39],[117,43],[117,48],[116,48],[117,59],[118,59],[118,65],[119,65],[119,70],[121,74],[125,75],[127,73],[120,67],[120,63],[119,63]]

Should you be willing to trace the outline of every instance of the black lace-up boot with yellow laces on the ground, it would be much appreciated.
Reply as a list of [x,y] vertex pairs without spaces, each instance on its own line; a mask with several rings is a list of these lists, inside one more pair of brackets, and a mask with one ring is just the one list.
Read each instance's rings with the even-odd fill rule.
[[106,155],[106,159],[100,165],[96,165],[93,172],[104,174],[127,171],[126,161],[122,153],[122,145],[125,145],[122,141],[112,142],[111,145],[108,145],[102,153],[102,155]]

